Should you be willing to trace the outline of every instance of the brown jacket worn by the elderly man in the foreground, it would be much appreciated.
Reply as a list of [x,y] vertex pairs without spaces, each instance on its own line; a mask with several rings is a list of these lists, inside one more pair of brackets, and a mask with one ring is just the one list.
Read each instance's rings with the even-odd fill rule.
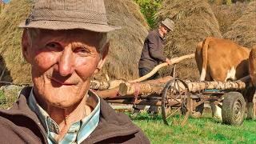
[[[46,130],[36,114],[30,110],[27,99],[31,87],[22,90],[10,110],[0,110],[1,143],[47,143]],[[100,122],[82,143],[150,143],[142,130],[125,114],[117,114],[101,99]]]

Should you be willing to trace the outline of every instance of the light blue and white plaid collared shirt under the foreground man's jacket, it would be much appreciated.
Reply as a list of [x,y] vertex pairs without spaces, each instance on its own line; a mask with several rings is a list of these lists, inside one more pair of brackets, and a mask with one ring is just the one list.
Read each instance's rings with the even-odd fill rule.
[[45,127],[46,134],[48,136],[47,140],[50,144],[81,143],[83,140],[88,138],[88,136],[95,130],[99,122],[100,99],[98,98],[97,94],[94,94],[92,91],[89,90],[86,102],[86,104],[94,108],[94,110],[88,116],[82,118],[82,120],[80,120],[79,122],[73,123],[64,138],[62,138],[61,141],[56,142],[54,138],[57,134],[59,134],[58,124],[54,122],[52,118],[50,118],[46,110],[43,110],[42,107],[38,105],[38,102],[34,98],[33,89],[30,92],[29,98],[30,109],[38,115],[40,122],[42,122],[42,126]]

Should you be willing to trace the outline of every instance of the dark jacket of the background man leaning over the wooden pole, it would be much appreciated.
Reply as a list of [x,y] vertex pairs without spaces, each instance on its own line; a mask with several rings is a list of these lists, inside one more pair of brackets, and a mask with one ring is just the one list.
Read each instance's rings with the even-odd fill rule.
[[150,31],[144,42],[138,68],[149,68],[152,70],[160,62],[166,62],[166,57],[163,54],[163,43],[164,40],[159,34],[158,29]]

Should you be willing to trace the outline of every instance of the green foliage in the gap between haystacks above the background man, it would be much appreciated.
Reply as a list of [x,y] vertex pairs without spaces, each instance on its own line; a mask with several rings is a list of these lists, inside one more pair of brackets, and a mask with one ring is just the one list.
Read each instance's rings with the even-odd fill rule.
[[162,0],[134,0],[141,7],[142,14],[146,17],[147,22],[151,28],[157,26],[154,14],[157,12],[158,7],[161,6]]

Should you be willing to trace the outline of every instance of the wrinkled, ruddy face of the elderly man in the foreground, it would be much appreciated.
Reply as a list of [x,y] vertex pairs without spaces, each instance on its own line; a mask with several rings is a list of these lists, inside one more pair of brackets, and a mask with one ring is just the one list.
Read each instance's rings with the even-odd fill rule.
[[38,101],[60,108],[80,102],[104,62],[98,52],[101,39],[86,30],[40,30],[34,38],[24,32],[22,52],[31,65]]

